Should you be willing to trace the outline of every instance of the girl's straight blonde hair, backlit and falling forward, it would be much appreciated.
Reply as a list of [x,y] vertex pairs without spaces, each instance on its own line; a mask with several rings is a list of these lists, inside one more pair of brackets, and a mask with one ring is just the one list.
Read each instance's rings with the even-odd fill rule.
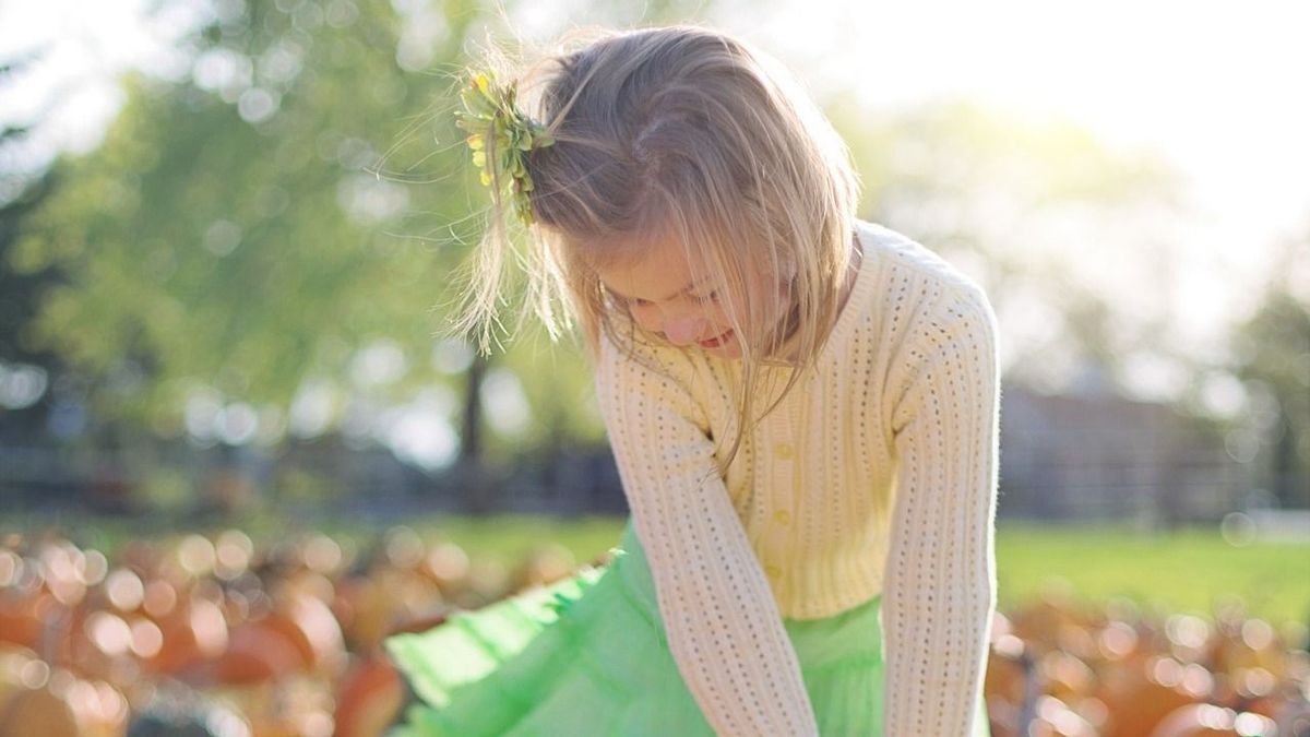
[[[845,144],[799,84],[744,41],[698,26],[591,31],[584,41],[517,76],[520,94],[534,101],[529,114],[554,138],[528,153],[536,223],[516,226],[493,193],[491,226],[455,332],[481,327],[487,350],[514,256],[528,275],[519,324],[536,312],[558,337],[571,320],[554,304],[567,302],[593,359],[608,336],[641,361],[635,344],[660,338],[638,328],[596,266],[631,262],[669,239],[688,256],[694,250],[744,307],[731,317],[747,340],[741,431],[719,464],[726,471],[752,424],[814,368],[836,324],[858,181]],[[745,285],[761,270],[791,277],[781,329],[751,323],[761,295]],[[779,361],[783,350],[790,358]],[[774,380],[764,367],[776,363],[796,370],[756,417],[756,397]]]

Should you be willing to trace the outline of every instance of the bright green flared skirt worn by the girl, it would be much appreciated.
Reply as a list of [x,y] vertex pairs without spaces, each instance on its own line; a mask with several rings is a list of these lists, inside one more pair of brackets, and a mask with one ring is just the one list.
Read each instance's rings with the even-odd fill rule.
[[[390,737],[713,736],[673,662],[629,521],[613,559],[386,640],[421,702]],[[828,736],[883,734],[879,599],[783,619]],[[981,704],[973,737],[986,737]]]

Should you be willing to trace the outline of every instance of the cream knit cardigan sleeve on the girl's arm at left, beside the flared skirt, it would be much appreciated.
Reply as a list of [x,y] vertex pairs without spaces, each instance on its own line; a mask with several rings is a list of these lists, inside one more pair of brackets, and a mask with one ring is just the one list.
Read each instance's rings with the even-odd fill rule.
[[603,338],[596,395],[673,660],[720,736],[816,736],[810,696],[685,380]]

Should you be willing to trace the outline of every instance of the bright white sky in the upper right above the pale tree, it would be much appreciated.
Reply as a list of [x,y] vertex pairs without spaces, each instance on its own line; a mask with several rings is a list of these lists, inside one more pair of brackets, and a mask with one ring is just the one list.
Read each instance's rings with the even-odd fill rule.
[[888,106],[963,94],[1158,148],[1193,180],[1204,248],[1258,260],[1310,227],[1310,3],[838,0],[735,17],[812,87]]

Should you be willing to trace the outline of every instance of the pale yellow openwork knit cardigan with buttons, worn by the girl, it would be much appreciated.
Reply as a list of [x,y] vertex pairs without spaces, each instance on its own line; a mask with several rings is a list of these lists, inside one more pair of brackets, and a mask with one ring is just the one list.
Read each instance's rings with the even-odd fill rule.
[[669,649],[720,736],[816,734],[782,618],[879,594],[883,734],[969,734],[981,699],[996,316],[922,245],[865,222],[857,239],[859,274],[817,371],[743,439],[726,477],[715,438],[738,431],[740,362],[652,345],[633,361],[601,344],[597,400]]

